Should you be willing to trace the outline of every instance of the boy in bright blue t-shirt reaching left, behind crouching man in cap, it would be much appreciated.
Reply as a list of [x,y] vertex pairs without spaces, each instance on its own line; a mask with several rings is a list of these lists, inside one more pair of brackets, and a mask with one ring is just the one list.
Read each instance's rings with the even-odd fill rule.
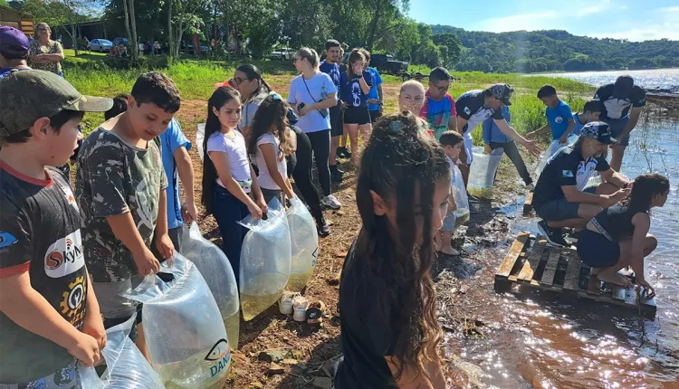
[[536,135],[551,130],[552,141],[559,140],[559,144],[565,145],[575,128],[573,112],[570,111],[569,105],[559,100],[557,90],[551,85],[545,85],[538,90],[538,99],[542,100],[542,103],[547,106],[545,109],[547,124],[540,129],[529,132],[526,134],[526,138],[532,139]]

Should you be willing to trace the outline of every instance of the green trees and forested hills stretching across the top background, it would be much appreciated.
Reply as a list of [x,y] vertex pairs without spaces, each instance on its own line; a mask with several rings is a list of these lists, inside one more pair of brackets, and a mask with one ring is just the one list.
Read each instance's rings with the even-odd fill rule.
[[[0,0],[4,1],[4,0]],[[322,50],[333,38],[398,60],[457,71],[542,72],[679,66],[679,42],[629,42],[565,31],[487,33],[417,23],[409,0],[24,0],[36,22],[107,21],[109,35],[166,44],[178,58],[197,34],[213,53],[262,58],[275,47]],[[75,33],[75,30],[66,31]],[[93,36],[91,39],[95,38]],[[136,45],[130,45],[137,57]]]

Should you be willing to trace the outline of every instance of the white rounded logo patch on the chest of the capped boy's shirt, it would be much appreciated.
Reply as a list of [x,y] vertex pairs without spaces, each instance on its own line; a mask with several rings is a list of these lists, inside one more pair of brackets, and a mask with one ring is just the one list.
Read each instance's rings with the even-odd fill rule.
[[80,230],[53,242],[44,256],[44,272],[53,279],[69,275],[83,266],[85,257],[82,255]]

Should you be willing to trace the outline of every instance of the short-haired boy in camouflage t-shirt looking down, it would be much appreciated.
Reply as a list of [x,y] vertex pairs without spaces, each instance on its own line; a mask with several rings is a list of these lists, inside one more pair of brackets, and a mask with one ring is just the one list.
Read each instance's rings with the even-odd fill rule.
[[[174,255],[167,235],[167,177],[158,136],[179,105],[179,91],[165,74],[142,74],[132,87],[128,110],[82,142],[76,197],[85,261],[107,328],[127,321],[137,310],[137,304],[120,293],[158,272],[151,245],[162,259]],[[148,356],[140,316],[137,323],[136,343]]]

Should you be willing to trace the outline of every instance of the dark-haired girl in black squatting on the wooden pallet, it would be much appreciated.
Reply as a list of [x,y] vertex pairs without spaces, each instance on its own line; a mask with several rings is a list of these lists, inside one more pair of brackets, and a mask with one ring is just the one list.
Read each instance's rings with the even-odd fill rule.
[[647,174],[636,177],[629,204],[615,205],[598,213],[580,233],[578,255],[592,268],[599,280],[631,287],[632,283],[618,270],[631,266],[636,284],[655,292],[644,278],[644,258],[658,245],[651,227],[651,208],[662,207],[670,192],[670,181],[664,176]]

